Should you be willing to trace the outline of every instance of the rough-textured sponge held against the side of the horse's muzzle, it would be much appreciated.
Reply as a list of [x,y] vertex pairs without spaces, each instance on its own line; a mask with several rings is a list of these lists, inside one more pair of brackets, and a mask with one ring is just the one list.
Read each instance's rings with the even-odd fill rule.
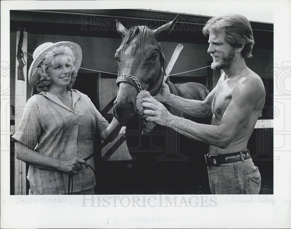
[[156,126],[155,122],[145,120],[145,118],[147,118],[150,115],[144,114],[143,113],[144,109],[141,106],[141,104],[143,103],[143,98],[150,97],[150,96],[151,96],[150,93],[148,91],[145,91],[145,90],[139,92],[136,96],[135,108],[136,108],[137,113],[141,116],[142,134],[146,134],[146,133],[150,132]]

